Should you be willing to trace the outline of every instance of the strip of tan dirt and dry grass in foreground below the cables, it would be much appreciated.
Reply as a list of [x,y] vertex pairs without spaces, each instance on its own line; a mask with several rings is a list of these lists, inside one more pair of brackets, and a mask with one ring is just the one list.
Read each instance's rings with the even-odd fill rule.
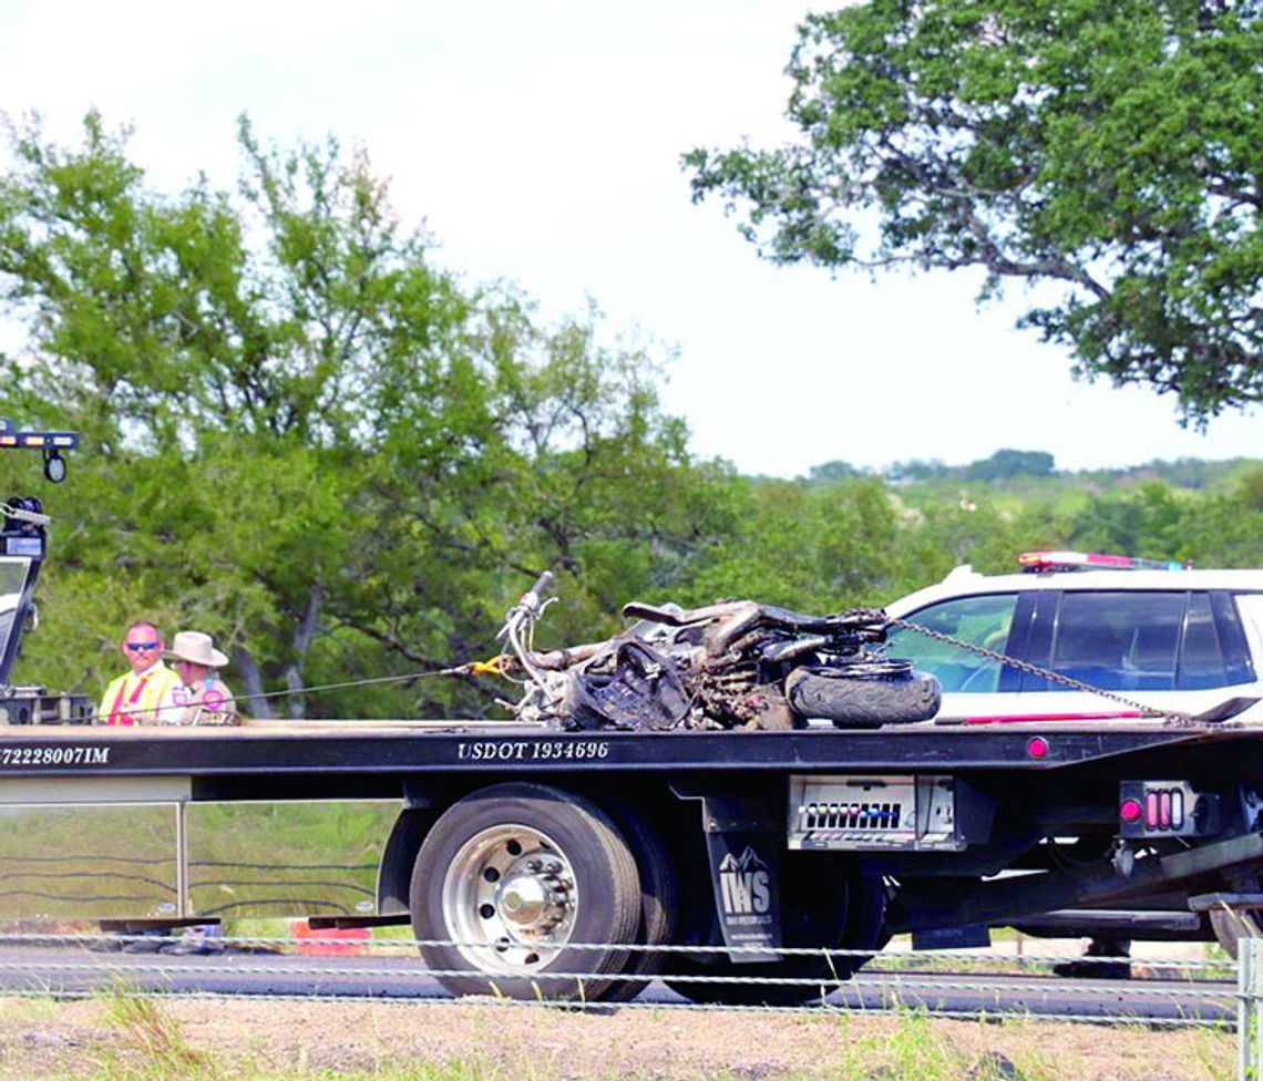
[[1202,1081],[1230,1077],[1234,1053],[1221,1032],[889,1014],[0,999],[4,1081]]

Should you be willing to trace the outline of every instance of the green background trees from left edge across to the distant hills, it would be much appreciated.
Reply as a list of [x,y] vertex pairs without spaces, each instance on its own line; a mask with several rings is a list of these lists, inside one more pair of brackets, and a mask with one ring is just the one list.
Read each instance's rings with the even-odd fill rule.
[[466,287],[362,154],[240,136],[239,193],[169,196],[96,115],[75,148],[10,134],[0,304],[27,336],[0,413],[83,434],[20,679],[99,693],[145,616],[212,633],[256,716],[472,716],[503,688],[403,677],[494,653],[544,568],[548,645],[605,636],[634,597],[836,611],[1037,547],[1263,566],[1258,462],[1067,475],[1002,450],[787,481],[697,461],[661,360],[606,343],[597,311],[546,325]]

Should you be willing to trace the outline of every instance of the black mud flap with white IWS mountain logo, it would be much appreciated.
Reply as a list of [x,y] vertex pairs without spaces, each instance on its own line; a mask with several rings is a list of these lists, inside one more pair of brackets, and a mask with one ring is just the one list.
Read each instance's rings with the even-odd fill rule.
[[[778,961],[783,807],[763,799],[703,796],[715,912],[724,943],[740,946],[734,964]],[[748,951],[748,952],[746,952]]]

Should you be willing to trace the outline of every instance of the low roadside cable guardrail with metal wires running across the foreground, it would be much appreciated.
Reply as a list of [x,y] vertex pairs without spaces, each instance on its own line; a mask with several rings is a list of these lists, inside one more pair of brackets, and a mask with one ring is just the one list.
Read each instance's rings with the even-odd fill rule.
[[[126,952],[136,945],[140,952]],[[162,956],[165,946],[203,946],[206,952],[224,957],[200,956],[198,948],[177,950],[182,956]],[[62,956],[4,956],[9,948],[57,948]],[[0,994],[86,998],[100,994],[102,986],[114,986],[129,995],[169,995],[178,998],[284,998],[296,1000],[368,1000],[426,1001],[428,1004],[477,1004],[480,1001],[517,1003],[496,988],[496,976],[479,975],[485,980],[485,996],[450,998],[432,980],[469,977],[471,970],[427,967],[416,951],[423,947],[455,947],[458,950],[489,948],[485,942],[419,938],[355,938],[336,933],[307,937],[245,937],[225,936],[203,938],[198,943],[188,933],[135,935],[0,935]],[[616,948],[628,959],[638,955],[666,955],[662,967],[671,969],[677,957],[691,960],[686,971],[663,977],[661,972],[638,972],[630,961],[623,971],[594,971],[582,964],[589,951]],[[88,957],[67,956],[67,951],[107,950]],[[357,956],[336,960],[318,951],[354,950]],[[117,952],[115,952],[117,951]],[[393,955],[386,955],[392,951]],[[927,962],[926,952],[909,950],[845,950],[832,947],[784,947],[783,959],[817,959],[822,971],[812,975],[754,971],[743,974],[735,961],[743,953],[763,953],[758,947],[623,945],[575,942],[556,948],[556,967],[534,972],[528,979],[537,989],[539,1004],[565,1009],[605,1012],[613,1009],[681,1009],[681,1010],[767,1010],[777,1013],[879,1013],[916,1009],[941,1018],[1038,1018],[1047,1020],[1084,1022],[1094,1024],[1147,1024],[1154,1027],[1235,1028],[1239,1033],[1258,1030],[1258,1023],[1247,1020],[1243,1028],[1243,1003],[1247,1001],[1242,974],[1248,966],[1221,957],[1190,959],[1187,956],[1147,957],[1067,957],[1065,955],[997,955],[979,950],[935,951]],[[158,953],[159,956],[148,956]],[[316,953],[317,956],[312,956]],[[187,956],[184,956],[187,955]],[[306,955],[306,956],[297,956]],[[385,956],[384,956],[385,955]],[[700,962],[726,955],[731,966],[707,972]],[[851,977],[834,967],[841,962],[868,959],[868,967]],[[1095,966],[1129,964],[1130,980],[1056,979],[1041,970],[1074,961],[1084,971]],[[926,965],[933,967],[927,969]],[[951,966],[943,971],[943,966]],[[1010,971],[997,972],[995,966]],[[967,971],[970,966],[981,966]],[[966,969],[961,971],[961,969]],[[1015,971],[1012,971],[1015,969]],[[1034,971],[1032,971],[1034,970]],[[1263,964],[1249,972],[1260,976]],[[1148,975],[1140,975],[1147,972]],[[1234,986],[1233,979],[1236,977]],[[505,976],[505,980],[513,979]],[[658,985],[667,980],[667,990]],[[32,981],[38,981],[30,986]],[[624,996],[634,1001],[587,1001],[585,985],[614,982]],[[369,986],[365,986],[369,984]],[[577,985],[578,994],[573,994]],[[644,994],[654,985],[653,991]],[[298,990],[293,990],[298,988]],[[801,989],[803,1005],[779,1001],[759,1004],[757,989],[779,993]],[[553,1001],[561,989],[570,990],[568,999]],[[755,993],[751,994],[751,989]],[[702,1001],[688,1001],[690,993]],[[729,995],[729,993],[731,993]],[[1253,990],[1250,1018],[1263,1017],[1263,990]],[[674,996],[674,998],[673,998]],[[685,999],[681,1001],[679,999]],[[724,1001],[731,998],[734,1001]],[[524,1003],[529,1005],[530,1003]],[[1263,1072],[1258,1075],[1263,1078]]]

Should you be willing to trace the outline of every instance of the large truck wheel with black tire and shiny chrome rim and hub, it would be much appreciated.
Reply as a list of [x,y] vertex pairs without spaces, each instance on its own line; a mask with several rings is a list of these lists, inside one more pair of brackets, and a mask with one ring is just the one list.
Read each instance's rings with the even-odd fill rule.
[[421,953],[453,995],[597,1000],[640,923],[635,860],[615,825],[544,784],[496,784],[448,808],[421,846],[409,902],[417,938],[452,943]]

